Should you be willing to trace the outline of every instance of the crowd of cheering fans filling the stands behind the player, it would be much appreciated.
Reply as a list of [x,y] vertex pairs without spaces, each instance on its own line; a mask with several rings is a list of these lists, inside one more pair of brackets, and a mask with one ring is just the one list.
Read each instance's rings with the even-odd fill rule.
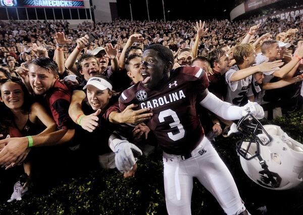
[[[66,169],[62,163],[114,168],[108,140],[121,138],[116,133],[145,154],[153,151],[155,139],[143,123],[152,116],[150,107],[121,112],[117,106],[123,90],[144,81],[142,50],[151,44],[173,52],[174,69],[203,68],[210,92],[221,100],[236,106],[256,101],[269,118],[277,108],[301,109],[302,20],[85,21],[77,29],[63,20],[0,21],[0,135],[6,138],[0,141],[0,189],[24,172],[11,197],[20,200],[41,183],[43,169],[54,179]],[[205,109],[199,115],[205,134],[227,133],[232,124]]]

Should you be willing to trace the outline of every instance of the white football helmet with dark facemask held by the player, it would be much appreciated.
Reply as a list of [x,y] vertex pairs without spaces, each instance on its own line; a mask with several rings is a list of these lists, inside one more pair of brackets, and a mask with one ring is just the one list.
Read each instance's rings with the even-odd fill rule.
[[277,125],[262,125],[248,113],[237,129],[243,134],[237,153],[245,174],[258,185],[286,190],[303,178],[303,145],[291,139]]

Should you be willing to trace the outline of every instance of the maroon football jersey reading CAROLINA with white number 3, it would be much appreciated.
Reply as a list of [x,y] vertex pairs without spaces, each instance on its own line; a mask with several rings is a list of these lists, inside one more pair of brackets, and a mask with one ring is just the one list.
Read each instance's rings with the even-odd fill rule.
[[163,150],[176,155],[188,153],[204,135],[195,105],[208,85],[203,69],[182,66],[171,72],[159,91],[147,89],[141,82],[125,90],[119,98],[120,110],[130,104],[138,104],[137,109],[149,107],[154,115],[145,123]]

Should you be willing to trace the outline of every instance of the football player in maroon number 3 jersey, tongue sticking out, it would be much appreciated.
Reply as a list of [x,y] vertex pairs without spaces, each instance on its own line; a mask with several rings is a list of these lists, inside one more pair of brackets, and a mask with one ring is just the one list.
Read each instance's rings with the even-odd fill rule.
[[[172,70],[172,52],[151,45],[143,53],[140,73],[143,80],[125,90],[119,99],[123,111],[129,104],[148,107],[153,116],[145,121],[163,149],[164,186],[169,214],[191,214],[193,177],[218,200],[227,214],[249,214],[241,201],[234,180],[210,141],[204,136],[195,105],[199,103],[218,116],[235,120],[247,109],[257,118],[264,112],[256,103],[244,107],[221,101],[207,87],[205,71],[183,66]],[[128,171],[136,163],[130,144],[112,143],[119,170]]]

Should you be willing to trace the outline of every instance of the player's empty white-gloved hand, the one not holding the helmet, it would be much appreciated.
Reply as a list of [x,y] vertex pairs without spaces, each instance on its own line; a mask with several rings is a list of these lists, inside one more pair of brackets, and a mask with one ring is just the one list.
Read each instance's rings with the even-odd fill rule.
[[116,167],[124,173],[130,171],[137,161],[133,153],[136,157],[142,155],[142,151],[127,140],[122,140],[115,146],[115,153]]

